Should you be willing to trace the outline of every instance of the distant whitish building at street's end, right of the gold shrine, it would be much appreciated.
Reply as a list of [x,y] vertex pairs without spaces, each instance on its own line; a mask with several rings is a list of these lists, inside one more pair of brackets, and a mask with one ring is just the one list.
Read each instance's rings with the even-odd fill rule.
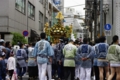
[[64,26],[73,26],[73,33],[76,38],[84,38],[84,23],[79,14],[75,13],[75,9],[66,8],[64,13]]

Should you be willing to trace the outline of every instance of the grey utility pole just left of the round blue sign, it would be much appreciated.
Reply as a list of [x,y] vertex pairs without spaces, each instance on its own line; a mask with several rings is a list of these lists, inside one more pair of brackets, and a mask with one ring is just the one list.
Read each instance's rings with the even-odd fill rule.
[[100,0],[100,36],[103,32],[103,0]]

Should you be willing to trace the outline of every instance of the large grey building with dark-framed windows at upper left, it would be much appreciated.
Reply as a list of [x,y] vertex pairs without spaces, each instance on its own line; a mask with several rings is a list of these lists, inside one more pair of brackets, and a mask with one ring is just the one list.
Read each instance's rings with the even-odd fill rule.
[[3,39],[11,32],[36,38],[43,31],[46,22],[52,22],[52,13],[60,10],[53,0],[0,0],[0,35]]

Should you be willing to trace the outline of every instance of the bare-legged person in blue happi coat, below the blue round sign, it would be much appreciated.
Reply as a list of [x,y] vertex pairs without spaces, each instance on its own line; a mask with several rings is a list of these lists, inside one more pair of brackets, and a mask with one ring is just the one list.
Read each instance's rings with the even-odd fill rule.
[[109,45],[105,43],[106,38],[104,36],[101,36],[99,41],[100,43],[95,45],[95,51],[97,58],[97,66],[99,67],[99,78],[100,80],[103,80],[104,70],[106,73],[105,78],[108,79],[109,76],[109,62],[106,60]]

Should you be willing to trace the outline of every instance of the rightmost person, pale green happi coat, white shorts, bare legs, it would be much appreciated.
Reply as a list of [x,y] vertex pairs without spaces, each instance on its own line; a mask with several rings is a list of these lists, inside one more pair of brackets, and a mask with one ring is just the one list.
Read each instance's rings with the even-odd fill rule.
[[112,80],[116,73],[116,79],[120,80],[120,46],[119,37],[117,35],[113,36],[113,44],[108,48],[107,60],[110,62],[110,71],[107,80]]

